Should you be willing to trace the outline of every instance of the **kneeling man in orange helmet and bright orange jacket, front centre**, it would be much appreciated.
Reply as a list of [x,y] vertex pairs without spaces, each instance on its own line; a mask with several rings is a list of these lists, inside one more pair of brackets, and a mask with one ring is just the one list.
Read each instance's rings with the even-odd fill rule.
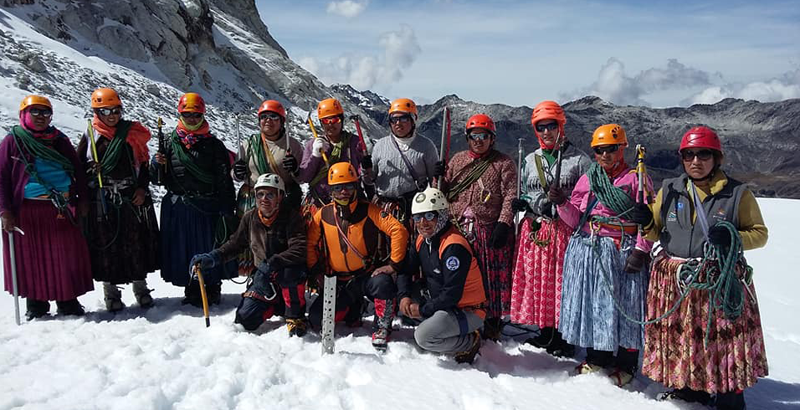
[[[375,302],[372,344],[385,349],[394,319],[395,278],[406,256],[408,231],[378,206],[357,199],[358,175],[352,164],[333,164],[328,185],[333,201],[314,214],[308,228],[308,267],[316,276],[338,277],[337,322],[359,326],[364,296]],[[381,233],[389,237],[391,249],[389,263],[383,266],[377,258]],[[322,301],[320,295],[309,312],[317,328],[322,323]]]

